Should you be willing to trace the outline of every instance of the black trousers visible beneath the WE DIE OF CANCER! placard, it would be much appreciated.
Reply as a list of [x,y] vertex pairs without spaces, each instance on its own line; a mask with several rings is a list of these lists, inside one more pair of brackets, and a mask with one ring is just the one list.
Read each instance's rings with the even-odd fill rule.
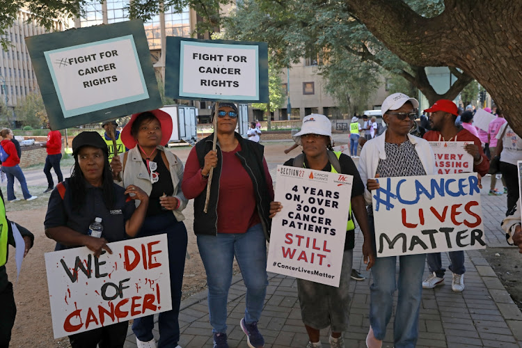
[[122,348],[129,322],[120,322],[69,336],[72,348]]

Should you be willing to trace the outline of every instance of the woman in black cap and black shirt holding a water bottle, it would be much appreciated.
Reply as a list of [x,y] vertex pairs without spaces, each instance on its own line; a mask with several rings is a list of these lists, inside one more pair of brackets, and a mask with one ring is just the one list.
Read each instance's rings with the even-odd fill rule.
[[[147,211],[148,196],[139,187],[129,185],[124,189],[113,182],[109,150],[97,132],[75,136],[72,155],[71,177],[56,185],[49,198],[45,235],[57,242],[56,251],[86,246],[96,257],[103,251],[112,253],[107,243],[138,233]],[[139,207],[135,208],[132,200],[139,200]],[[120,214],[113,213],[116,211]],[[99,218],[104,227],[101,235],[89,235],[91,224]],[[118,322],[75,333],[69,340],[72,348],[123,347],[128,327],[129,322]]]

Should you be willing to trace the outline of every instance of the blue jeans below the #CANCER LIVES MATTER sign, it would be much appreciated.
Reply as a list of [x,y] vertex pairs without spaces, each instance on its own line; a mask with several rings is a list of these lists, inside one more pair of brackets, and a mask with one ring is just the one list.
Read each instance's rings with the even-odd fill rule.
[[[374,234],[373,216],[369,216]],[[419,308],[422,300],[422,274],[426,254],[399,256],[399,279],[395,280],[397,256],[376,258],[370,285],[370,325],[375,338],[383,340],[393,310],[393,293],[399,291],[393,342],[395,348],[413,348],[419,334]]]

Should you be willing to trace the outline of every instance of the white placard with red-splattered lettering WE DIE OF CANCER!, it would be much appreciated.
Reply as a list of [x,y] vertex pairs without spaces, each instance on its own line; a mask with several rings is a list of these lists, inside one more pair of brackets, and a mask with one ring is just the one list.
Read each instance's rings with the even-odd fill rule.
[[172,309],[165,234],[45,254],[54,338]]

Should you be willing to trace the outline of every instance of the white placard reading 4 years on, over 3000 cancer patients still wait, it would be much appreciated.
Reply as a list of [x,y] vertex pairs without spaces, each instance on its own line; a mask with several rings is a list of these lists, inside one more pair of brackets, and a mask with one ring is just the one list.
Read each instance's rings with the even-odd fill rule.
[[338,287],[351,175],[278,166],[267,271]]

